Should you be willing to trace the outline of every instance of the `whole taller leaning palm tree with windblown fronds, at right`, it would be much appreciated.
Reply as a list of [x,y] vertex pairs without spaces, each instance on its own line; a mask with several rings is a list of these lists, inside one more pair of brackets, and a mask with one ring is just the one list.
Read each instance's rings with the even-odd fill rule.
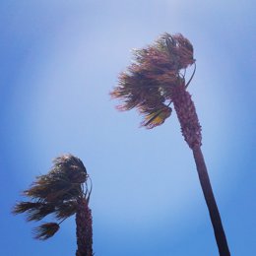
[[[194,71],[186,83],[186,69],[191,65]],[[137,108],[144,116],[141,125],[148,129],[162,124],[170,116],[170,104],[173,103],[181,133],[194,155],[220,255],[228,256],[224,227],[201,151],[201,125],[187,92],[195,71],[190,41],[181,34],[163,33],[152,45],[134,50],[133,63],[120,74],[119,83],[110,95],[121,99],[119,110]]]

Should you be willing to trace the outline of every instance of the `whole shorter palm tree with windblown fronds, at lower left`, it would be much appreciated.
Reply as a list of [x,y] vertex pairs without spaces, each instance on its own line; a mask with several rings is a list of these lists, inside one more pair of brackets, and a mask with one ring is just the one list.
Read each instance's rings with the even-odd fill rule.
[[23,192],[30,201],[17,203],[13,214],[27,213],[28,222],[53,215],[57,222],[40,224],[34,228],[34,238],[39,240],[53,236],[62,222],[76,215],[76,255],[92,256],[93,228],[89,208],[92,186],[88,186],[89,179],[82,160],[69,154],[56,158],[50,171],[36,177],[32,186]]

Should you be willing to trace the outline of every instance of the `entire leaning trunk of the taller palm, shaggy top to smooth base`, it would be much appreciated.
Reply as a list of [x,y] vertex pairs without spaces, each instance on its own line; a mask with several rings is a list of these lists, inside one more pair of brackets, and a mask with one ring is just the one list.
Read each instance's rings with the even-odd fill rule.
[[173,104],[181,125],[182,135],[194,154],[200,184],[209,210],[211,222],[214,227],[220,256],[230,256],[221,216],[201,151],[201,126],[199,124],[195,105],[191,96],[186,91],[184,84],[176,87],[173,91]]

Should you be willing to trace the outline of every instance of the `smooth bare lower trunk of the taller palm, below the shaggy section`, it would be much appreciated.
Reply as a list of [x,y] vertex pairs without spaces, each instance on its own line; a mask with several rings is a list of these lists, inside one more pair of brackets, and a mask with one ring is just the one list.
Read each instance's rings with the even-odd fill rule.
[[221,215],[215,200],[214,192],[209,179],[206,163],[202,154],[201,148],[196,147],[193,149],[194,159],[196,161],[197,172],[201,187],[204,193],[208,211],[210,214],[211,222],[214,227],[215,237],[218,244],[221,256],[230,256],[227,241],[224,234],[224,226],[222,224]]

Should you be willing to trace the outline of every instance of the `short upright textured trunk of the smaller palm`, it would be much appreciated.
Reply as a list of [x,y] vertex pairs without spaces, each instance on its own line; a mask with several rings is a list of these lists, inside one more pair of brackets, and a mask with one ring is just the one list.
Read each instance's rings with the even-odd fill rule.
[[93,256],[93,220],[86,198],[78,202],[76,224],[78,245],[76,256]]

